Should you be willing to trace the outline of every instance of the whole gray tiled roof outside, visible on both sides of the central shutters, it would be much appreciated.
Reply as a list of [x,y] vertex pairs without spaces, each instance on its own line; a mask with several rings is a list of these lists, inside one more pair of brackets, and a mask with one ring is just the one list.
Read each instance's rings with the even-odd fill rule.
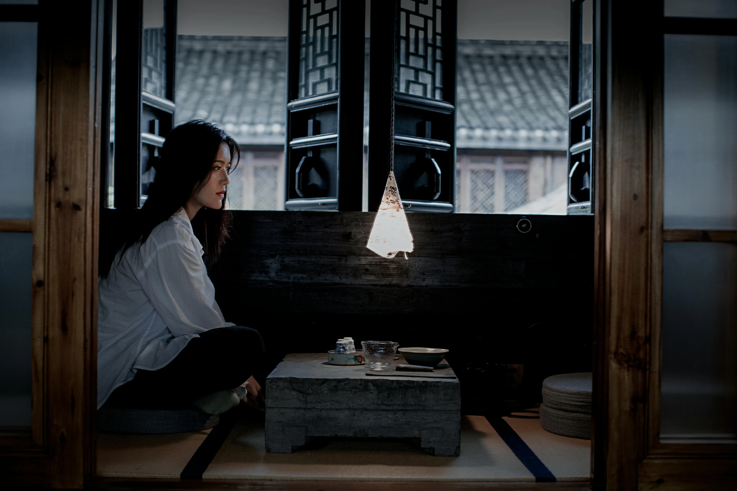
[[[458,40],[458,147],[565,150],[567,56],[567,43]],[[176,122],[284,144],[285,68],[286,38],[180,36]]]

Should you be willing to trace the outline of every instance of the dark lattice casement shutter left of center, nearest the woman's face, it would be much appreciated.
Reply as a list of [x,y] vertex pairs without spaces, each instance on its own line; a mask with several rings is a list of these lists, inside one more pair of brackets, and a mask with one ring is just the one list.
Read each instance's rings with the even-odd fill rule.
[[365,9],[289,2],[287,210],[361,211]]

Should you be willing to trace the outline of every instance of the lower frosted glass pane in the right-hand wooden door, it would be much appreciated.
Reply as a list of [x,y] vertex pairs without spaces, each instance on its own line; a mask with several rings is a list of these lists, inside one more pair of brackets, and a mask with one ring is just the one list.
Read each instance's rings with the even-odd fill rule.
[[735,437],[736,299],[737,244],[663,244],[661,437]]

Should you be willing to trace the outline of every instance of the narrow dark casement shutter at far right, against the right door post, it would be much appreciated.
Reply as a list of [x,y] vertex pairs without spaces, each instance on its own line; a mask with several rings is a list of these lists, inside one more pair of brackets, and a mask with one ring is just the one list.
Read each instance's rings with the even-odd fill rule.
[[592,213],[593,3],[573,0],[570,4],[568,214]]

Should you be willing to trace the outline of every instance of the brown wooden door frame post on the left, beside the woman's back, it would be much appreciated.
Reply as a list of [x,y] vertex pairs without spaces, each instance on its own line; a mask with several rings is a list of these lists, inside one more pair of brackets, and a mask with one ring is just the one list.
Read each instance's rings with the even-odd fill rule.
[[41,0],[32,220],[32,430],[0,439],[0,475],[94,476],[104,0]]

